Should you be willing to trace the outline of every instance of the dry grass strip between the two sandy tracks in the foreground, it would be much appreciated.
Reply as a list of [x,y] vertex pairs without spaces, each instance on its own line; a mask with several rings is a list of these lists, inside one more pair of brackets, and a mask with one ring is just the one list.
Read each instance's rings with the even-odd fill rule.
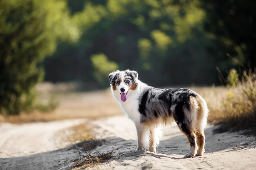
[[74,144],[74,147],[79,148],[81,151],[81,157],[73,161],[72,170],[81,170],[116,158],[113,150],[105,153],[95,150],[97,146],[104,144],[105,140],[95,139],[92,126],[89,123],[76,125],[58,132],[57,136],[55,136],[55,141],[61,141],[62,147]]

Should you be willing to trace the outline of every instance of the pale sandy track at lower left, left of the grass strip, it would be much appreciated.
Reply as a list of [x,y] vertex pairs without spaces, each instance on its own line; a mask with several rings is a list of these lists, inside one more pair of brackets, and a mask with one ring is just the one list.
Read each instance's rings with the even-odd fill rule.
[[85,122],[73,119],[14,125],[0,124],[0,170],[58,170],[79,157],[76,148],[61,148],[59,131]]

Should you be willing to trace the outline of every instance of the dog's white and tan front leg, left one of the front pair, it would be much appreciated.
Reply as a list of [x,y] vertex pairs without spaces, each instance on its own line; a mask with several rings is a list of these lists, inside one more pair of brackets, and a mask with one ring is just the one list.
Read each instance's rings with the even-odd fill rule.
[[136,150],[143,150],[143,147],[148,146],[149,128],[142,123],[136,124],[138,146]]

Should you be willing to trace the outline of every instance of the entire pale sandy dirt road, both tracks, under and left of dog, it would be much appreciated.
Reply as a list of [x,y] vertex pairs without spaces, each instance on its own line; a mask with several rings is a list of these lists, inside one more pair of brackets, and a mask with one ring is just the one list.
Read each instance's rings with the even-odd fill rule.
[[[0,170],[68,170],[73,160],[81,158],[81,150],[61,148],[54,136],[60,130],[84,122],[79,120],[0,126]],[[177,127],[163,128],[157,153],[134,151],[137,145],[133,122],[115,116],[91,122],[96,138],[106,139],[97,147],[100,152],[115,151],[119,159],[87,169],[114,170],[254,170],[256,142],[254,137],[239,133],[214,134],[206,130],[206,153],[202,157],[184,159],[189,150],[186,136]]]

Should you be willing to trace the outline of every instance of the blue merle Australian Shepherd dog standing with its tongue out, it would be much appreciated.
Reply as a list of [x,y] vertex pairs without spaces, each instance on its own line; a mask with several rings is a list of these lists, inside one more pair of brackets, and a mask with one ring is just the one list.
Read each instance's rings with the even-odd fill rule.
[[[156,152],[161,126],[176,122],[190,144],[185,157],[203,156],[208,107],[197,93],[185,88],[160,89],[138,79],[137,71],[113,71],[109,74],[113,97],[137,129],[137,149]],[[198,141],[198,146],[196,143]]]

